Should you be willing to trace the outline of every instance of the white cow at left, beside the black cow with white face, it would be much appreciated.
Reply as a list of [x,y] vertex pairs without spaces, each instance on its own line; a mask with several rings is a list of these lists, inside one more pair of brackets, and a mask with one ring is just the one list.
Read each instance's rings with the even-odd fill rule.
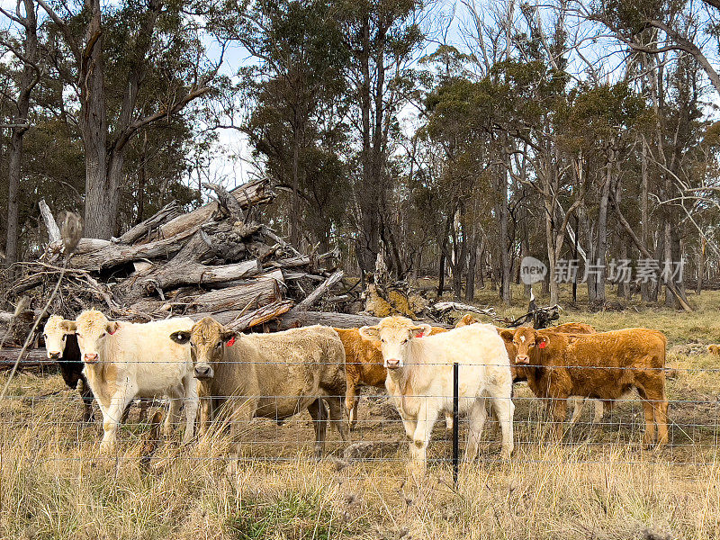
[[83,311],[76,320],[61,323],[76,333],[84,374],[103,412],[100,451],[114,451],[122,412],[136,397],[170,398],[165,435],[178,420],[184,402],[183,443],[193,437],[198,408],[190,347],[169,338],[178,330],[193,328],[188,318],[157,320],[145,324],[110,321],[96,310]]

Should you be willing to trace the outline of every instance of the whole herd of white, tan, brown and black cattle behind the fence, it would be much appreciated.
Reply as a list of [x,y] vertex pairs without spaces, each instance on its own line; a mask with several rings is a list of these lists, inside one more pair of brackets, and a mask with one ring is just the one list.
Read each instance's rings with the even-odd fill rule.
[[579,398],[573,421],[584,399],[598,400],[598,419],[603,408],[635,389],[644,405],[644,444],[668,441],[667,342],[652,329],[596,333],[583,323],[499,329],[468,316],[450,330],[388,317],[361,329],[312,326],[239,334],[211,318],[138,324],[89,310],[76,320],[51,316],[44,338],[67,385],[81,393],[84,420],[92,419],[97,401],[103,454],[114,452],[131,401],[166,397],[166,437],[182,410],[183,442],[191,441],[199,407],[199,436],[213,423],[229,423],[233,455],[238,429],[251,419],[282,422],[308,410],[321,455],[327,420],[347,441],[348,424],[353,428],[357,421],[359,388],[375,386],[387,389],[409,438],[411,459],[424,466],[438,416],[452,423],[455,363],[460,413],[469,420],[466,459],[477,455],[488,405],[500,424],[502,455],[512,453],[512,388],[518,381],[527,381],[547,403],[555,437],[562,437],[569,397]]

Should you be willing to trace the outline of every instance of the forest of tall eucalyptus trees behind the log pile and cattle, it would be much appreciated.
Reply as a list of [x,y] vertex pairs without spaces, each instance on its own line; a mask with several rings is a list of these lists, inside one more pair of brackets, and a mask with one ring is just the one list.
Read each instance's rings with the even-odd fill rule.
[[715,0],[0,5],[8,277],[40,254],[41,198],[117,237],[200,204],[230,130],[279,193],[264,220],[350,273],[382,253],[397,279],[508,303],[522,257],[579,259],[595,306],[611,259],[686,262],[675,293],[621,297],[678,307],[716,282]]

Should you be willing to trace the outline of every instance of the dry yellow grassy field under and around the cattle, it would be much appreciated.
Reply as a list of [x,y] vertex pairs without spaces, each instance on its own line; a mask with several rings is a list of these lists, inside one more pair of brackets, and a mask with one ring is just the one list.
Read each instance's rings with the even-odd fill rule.
[[[391,443],[373,459],[339,460],[342,446],[332,433],[335,457],[313,460],[310,417],[303,414],[284,426],[249,426],[246,459],[230,475],[222,436],[185,449],[169,441],[144,467],[147,423],[123,427],[119,459],[100,459],[100,425],[77,422],[76,393],[63,389],[59,375],[20,374],[13,398],[0,403],[0,537],[720,537],[720,361],[703,352],[720,342],[720,293],[690,301],[694,313],[631,302],[624,311],[566,311],[561,320],[668,335],[669,364],[680,368],[668,383],[669,447],[641,448],[642,407],[632,400],[596,427],[587,407],[563,444],[551,444],[539,403],[521,384],[513,459],[498,459],[499,436],[489,425],[481,461],[463,466],[456,489],[441,422],[429,452],[436,461],[425,478],[416,478],[405,467],[401,427],[381,397],[362,402],[362,425],[352,435]],[[478,303],[497,305],[494,293],[483,293]],[[520,315],[525,305],[518,294],[507,312],[498,311]]]

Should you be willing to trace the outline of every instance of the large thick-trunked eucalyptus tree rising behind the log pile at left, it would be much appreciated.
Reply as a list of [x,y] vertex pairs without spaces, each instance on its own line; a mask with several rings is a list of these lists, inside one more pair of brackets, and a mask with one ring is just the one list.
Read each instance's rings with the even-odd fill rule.
[[[202,2],[38,3],[55,75],[75,94],[85,150],[85,234],[117,233],[128,145],[211,92]],[[221,55],[220,55],[221,60]]]

